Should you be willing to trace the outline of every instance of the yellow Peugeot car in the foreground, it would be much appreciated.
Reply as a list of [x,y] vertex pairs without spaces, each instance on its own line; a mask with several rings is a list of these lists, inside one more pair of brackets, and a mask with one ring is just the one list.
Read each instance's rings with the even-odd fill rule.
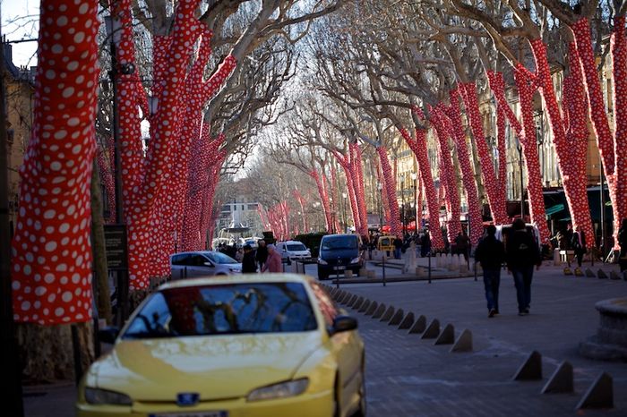
[[198,278],[159,287],[79,386],[80,417],[365,415],[364,343],[314,279]]

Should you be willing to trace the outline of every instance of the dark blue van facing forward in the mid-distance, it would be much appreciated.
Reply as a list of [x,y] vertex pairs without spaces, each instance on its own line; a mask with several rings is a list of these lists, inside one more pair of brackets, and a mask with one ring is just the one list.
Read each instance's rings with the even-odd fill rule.
[[318,278],[327,279],[333,274],[344,274],[351,269],[359,274],[363,262],[359,256],[361,238],[358,234],[326,234],[322,236],[318,255]]

